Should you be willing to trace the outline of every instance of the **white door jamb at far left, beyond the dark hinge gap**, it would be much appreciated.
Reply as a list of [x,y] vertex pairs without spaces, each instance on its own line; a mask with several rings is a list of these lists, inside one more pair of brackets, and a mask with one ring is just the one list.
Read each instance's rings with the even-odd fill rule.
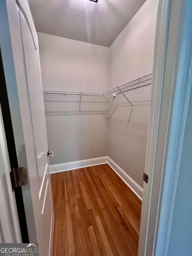
[[9,173],[10,162],[0,105],[0,243],[20,243],[19,219]]

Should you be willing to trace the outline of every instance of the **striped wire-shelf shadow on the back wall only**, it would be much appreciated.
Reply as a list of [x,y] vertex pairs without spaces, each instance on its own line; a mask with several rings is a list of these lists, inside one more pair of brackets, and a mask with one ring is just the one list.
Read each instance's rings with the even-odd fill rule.
[[106,96],[44,93],[46,115],[107,114],[110,102]]

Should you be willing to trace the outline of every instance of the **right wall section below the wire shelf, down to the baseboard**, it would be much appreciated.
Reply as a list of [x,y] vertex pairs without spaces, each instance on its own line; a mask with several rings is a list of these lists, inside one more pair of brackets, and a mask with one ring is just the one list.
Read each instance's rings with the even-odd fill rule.
[[106,118],[107,152],[116,164],[143,187],[151,85],[125,92],[125,95],[134,109],[122,94],[116,96],[114,103],[118,108],[110,118]]

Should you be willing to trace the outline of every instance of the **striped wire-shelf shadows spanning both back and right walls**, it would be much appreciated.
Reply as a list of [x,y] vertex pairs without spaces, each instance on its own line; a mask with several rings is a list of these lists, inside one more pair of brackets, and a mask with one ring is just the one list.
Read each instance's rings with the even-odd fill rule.
[[[117,93],[114,103],[118,111],[114,115],[116,107],[106,96],[82,95],[81,97],[80,95],[44,93],[45,115],[105,114],[106,121],[110,121],[109,124],[117,125],[122,129],[122,127],[128,128],[134,112],[132,124],[135,126],[148,124],[146,107],[150,105],[151,85],[124,92],[124,94],[132,102],[134,109],[121,93]],[[110,96],[110,99],[113,100],[113,97]]]

